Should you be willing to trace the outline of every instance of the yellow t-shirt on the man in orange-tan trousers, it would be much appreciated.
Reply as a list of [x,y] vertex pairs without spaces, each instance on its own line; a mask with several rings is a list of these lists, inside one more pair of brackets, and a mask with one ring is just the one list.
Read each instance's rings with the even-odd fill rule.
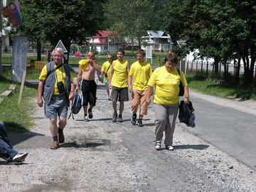
[[151,65],[144,61],[143,63],[132,63],[129,75],[133,76],[132,88],[134,90],[147,90],[147,83],[152,74]]

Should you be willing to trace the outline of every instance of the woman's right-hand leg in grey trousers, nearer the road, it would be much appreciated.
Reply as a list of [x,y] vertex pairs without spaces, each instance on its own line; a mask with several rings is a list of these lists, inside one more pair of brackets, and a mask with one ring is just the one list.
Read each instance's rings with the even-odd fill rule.
[[167,124],[165,129],[165,140],[166,146],[173,144],[175,121],[178,114],[178,103],[167,107]]

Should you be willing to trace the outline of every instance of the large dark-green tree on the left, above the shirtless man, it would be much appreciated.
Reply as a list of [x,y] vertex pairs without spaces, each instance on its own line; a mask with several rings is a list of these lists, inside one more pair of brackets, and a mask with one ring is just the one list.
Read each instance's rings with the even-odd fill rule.
[[[70,52],[71,43],[82,45],[102,25],[105,0],[21,0],[23,24],[18,33],[57,45],[61,40]],[[69,55],[69,54],[68,54]]]

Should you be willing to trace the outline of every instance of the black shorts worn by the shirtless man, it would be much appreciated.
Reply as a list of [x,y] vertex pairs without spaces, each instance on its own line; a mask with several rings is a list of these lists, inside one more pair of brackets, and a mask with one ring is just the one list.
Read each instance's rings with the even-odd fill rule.
[[97,84],[95,80],[82,80],[82,105],[96,105]]

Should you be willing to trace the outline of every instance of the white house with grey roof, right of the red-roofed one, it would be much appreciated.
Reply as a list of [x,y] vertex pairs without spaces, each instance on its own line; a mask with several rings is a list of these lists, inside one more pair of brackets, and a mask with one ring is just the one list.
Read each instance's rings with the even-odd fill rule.
[[172,50],[171,36],[164,31],[146,31],[148,36],[144,37],[144,43],[142,43],[142,48],[145,49],[146,46],[151,46],[152,51],[168,51]]

